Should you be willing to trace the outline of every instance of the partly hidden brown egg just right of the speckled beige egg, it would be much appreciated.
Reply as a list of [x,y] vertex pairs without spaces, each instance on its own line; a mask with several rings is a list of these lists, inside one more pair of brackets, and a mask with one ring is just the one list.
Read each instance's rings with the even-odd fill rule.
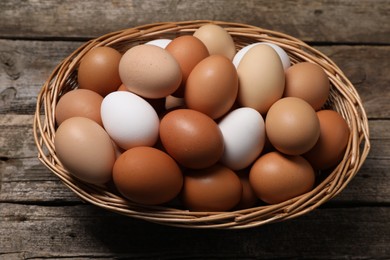
[[188,76],[196,64],[209,56],[209,51],[201,40],[192,35],[183,35],[173,39],[165,49],[179,63],[183,77],[179,89],[172,95],[183,97]]

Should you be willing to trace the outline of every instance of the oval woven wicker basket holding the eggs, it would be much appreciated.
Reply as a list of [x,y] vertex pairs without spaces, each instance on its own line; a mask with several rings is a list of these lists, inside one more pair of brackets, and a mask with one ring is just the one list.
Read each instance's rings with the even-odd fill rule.
[[[56,130],[54,115],[58,98],[63,93],[77,88],[77,67],[81,58],[97,46],[110,46],[124,53],[131,46],[152,39],[192,34],[206,23],[224,27],[232,35],[237,49],[253,42],[271,42],[282,47],[293,64],[310,61],[325,70],[331,82],[331,94],[326,106],[338,111],[346,119],[352,133],[342,162],[306,194],[276,205],[229,212],[191,212],[174,207],[139,205],[108,189],[72,178],[56,156],[53,144]],[[88,41],[64,59],[43,85],[37,98],[33,128],[39,160],[83,200],[134,218],[190,228],[249,228],[308,213],[345,188],[370,150],[368,121],[360,97],[351,82],[328,57],[304,42],[282,33],[245,24],[207,20],[148,24]]]

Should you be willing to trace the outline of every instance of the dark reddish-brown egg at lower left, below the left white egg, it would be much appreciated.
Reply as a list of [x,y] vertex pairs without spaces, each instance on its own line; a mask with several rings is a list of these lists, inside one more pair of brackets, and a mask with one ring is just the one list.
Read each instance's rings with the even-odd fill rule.
[[183,185],[177,163],[166,153],[146,146],[131,148],[116,160],[113,181],[131,201],[146,205],[166,203]]

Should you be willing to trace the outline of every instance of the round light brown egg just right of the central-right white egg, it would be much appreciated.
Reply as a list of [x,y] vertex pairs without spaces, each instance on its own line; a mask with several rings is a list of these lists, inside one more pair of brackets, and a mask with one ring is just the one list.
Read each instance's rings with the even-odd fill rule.
[[271,144],[289,155],[309,151],[320,136],[320,122],[313,107],[296,97],[282,98],[271,106],[265,129]]

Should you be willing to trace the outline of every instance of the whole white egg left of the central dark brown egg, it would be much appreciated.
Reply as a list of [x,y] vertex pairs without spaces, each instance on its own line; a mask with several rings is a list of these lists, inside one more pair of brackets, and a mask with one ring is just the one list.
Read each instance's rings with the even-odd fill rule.
[[153,107],[134,93],[116,91],[101,105],[105,130],[121,148],[153,146],[158,138],[159,117]]

